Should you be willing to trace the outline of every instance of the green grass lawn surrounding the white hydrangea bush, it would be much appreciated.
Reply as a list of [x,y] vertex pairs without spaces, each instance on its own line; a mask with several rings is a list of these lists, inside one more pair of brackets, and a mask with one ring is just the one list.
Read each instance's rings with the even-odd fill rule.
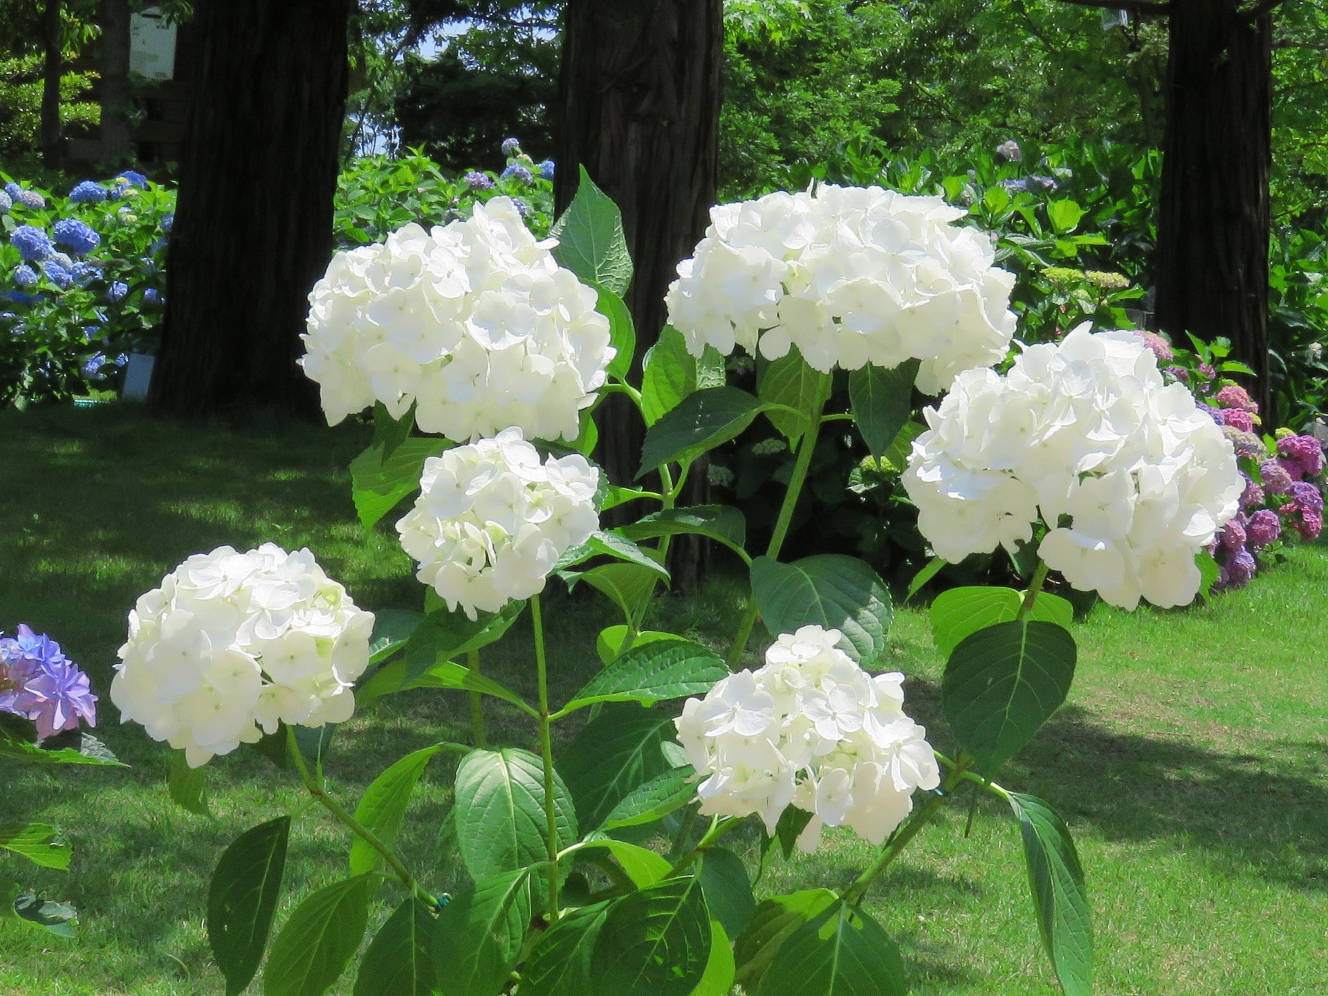
[[[98,734],[131,765],[0,774],[0,823],[40,815],[76,849],[69,874],[0,858],[0,876],[72,900],[81,919],[77,940],[0,920],[4,996],[222,992],[203,928],[212,863],[299,794],[267,762],[236,754],[208,766],[214,819],[175,807],[167,749],[121,726],[106,697],[116,648],[139,592],[222,543],[308,544],[360,604],[416,607],[405,555],[386,533],[367,543],[355,522],[344,467],[365,440],[355,428],[235,434],[117,406],[0,413],[0,628],[27,622],[62,644],[104,696]],[[722,644],[736,591],[721,578],[704,599],[664,603],[656,622]],[[1048,799],[1078,842],[1097,992],[1328,992],[1325,592],[1328,548],[1299,548],[1212,606],[1133,615],[1100,607],[1077,627],[1070,701],[1001,781]],[[554,598],[546,616],[554,696],[566,697],[598,667],[591,641],[614,615],[598,602]],[[907,708],[944,749],[940,661],[924,612],[902,610],[891,639],[894,667],[910,676]],[[525,692],[534,685],[529,661],[518,624],[486,651],[485,667]],[[333,786],[353,803],[402,753],[465,738],[466,709],[457,695],[426,692],[356,716],[333,745]],[[495,738],[530,742],[533,725],[489,714]],[[404,850],[445,888],[454,872],[438,857],[437,827],[450,772],[436,764]],[[985,798],[967,838],[964,825],[964,806],[947,810],[869,898],[904,952],[914,992],[1058,992],[1031,915],[1017,827]],[[730,841],[754,858],[753,837]],[[299,817],[283,910],[345,872],[345,846],[321,810]],[[772,863],[758,894],[845,886],[867,857],[851,835],[830,834],[813,858]]]

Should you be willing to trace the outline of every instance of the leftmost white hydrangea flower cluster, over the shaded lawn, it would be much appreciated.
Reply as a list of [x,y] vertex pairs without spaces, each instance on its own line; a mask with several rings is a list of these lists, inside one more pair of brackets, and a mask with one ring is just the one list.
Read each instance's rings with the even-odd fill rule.
[[141,722],[198,768],[278,722],[351,718],[372,631],[373,614],[308,550],[218,547],[139,596],[110,699],[122,721]]

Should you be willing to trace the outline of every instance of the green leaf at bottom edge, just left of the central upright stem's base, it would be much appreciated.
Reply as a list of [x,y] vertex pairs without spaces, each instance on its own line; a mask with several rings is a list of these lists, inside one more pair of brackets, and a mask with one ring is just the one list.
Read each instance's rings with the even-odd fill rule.
[[434,931],[433,963],[444,996],[501,992],[521,957],[530,912],[525,870],[463,886],[442,908]]

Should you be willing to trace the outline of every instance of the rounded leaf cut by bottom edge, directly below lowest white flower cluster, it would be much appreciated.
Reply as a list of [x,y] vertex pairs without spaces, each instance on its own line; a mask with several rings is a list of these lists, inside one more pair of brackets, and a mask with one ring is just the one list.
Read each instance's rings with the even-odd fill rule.
[[890,935],[839,902],[780,946],[757,996],[904,996],[907,988]]

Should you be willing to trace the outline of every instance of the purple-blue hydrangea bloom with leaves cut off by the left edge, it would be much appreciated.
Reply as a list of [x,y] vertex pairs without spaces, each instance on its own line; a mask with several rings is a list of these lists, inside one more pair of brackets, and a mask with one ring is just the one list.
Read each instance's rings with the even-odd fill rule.
[[[0,633],[0,778],[19,765],[117,765],[84,729],[97,725],[97,696],[88,676],[60,644],[20,623]],[[72,936],[76,911],[39,896],[9,878],[5,857],[69,870],[72,849],[60,827],[42,822],[0,825],[0,916]]]

